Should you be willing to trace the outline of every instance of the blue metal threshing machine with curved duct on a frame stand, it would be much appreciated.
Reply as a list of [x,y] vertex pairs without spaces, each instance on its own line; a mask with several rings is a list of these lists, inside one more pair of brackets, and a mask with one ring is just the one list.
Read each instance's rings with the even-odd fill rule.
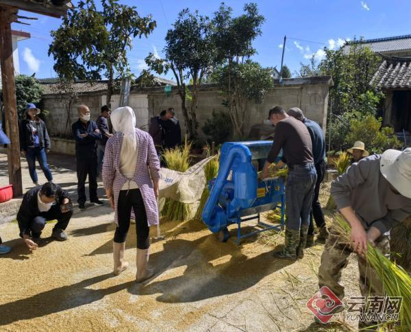
[[[203,221],[221,242],[227,241],[227,226],[238,225],[236,243],[242,238],[284,226],[284,178],[258,179],[271,149],[272,141],[224,143],[221,148],[219,175],[209,184],[210,197],[203,209]],[[280,156],[277,158],[279,161]],[[276,161],[276,162],[277,162]],[[279,208],[281,224],[260,221],[260,212]],[[241,223],[258,219],[260,230],[241,234]]]

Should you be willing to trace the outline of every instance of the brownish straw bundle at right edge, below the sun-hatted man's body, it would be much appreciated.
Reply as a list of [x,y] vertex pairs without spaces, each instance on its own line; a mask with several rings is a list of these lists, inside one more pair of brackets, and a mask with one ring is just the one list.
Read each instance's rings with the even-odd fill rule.
[[411,273],[411,217],[391,230],[391,260]]

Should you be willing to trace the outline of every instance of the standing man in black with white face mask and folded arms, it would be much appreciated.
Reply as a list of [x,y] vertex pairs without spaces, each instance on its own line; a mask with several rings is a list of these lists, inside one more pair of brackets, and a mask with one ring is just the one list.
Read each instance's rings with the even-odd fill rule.
[[79,209],[86,207],[86,178],[90,191],[90,202],[103,205],[97,198],[97,147],[96,142],[101,139],[97,124],[90,120],[90,109],[86,105],[78,108],[79,120],[71,127],[75,138],[75,160],[77,164],[77,193]]

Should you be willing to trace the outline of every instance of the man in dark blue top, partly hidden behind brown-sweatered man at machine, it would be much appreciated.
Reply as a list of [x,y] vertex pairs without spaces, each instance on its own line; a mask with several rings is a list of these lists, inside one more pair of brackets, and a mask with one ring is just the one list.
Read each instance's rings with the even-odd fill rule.
[[312,143],[312,154],[314,156],[314,165],[317,174],[317,180],[315,182],[314,197],[312,198],[311,212],[310,212],[310,226],[308,227],[308,236],[306,248],[314,245],[314,224],[319,229],[320,234],[317,240],[321,243],[325,243],[328,238],[328,230],[325,226],[325,218],[323,209],[319,201],[320,187],[325,176],[325,137],[323,129],[316,122],[307,119],[304,116],[303,111],[298,107],[292,107],[287,112],[288,115],[295,117],[297,120],[303,122],[310,133]]

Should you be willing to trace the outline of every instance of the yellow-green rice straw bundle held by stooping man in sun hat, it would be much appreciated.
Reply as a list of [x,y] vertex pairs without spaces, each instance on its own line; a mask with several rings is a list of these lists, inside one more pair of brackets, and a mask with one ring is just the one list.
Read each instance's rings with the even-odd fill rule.
[[[351,244],[351,227],[345,219],[338,215],[334,223],[336,231],[340,233],[342,242]],[[399,331],[410,331],[411,327],[411,277],[401,266],[386,258],[381,251],[367,243],[365,254],[367,262],[375,269],[379,279],[382,280],[387,296],[402,296],[399,326],[395,326]]]

